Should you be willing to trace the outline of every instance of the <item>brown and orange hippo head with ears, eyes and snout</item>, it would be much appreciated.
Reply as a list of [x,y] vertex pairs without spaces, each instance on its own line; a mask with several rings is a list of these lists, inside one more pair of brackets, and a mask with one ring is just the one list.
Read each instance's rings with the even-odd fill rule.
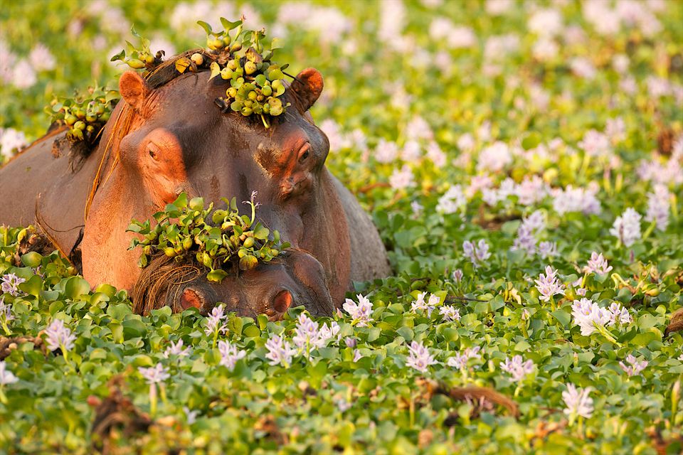
[[[159,82],[124,73],[123,102],[102,138],[112,153],[105,150],[86,209],[85,278],[135,288],[141,311],[151,299],[152,307],[164,302],[203,312],[221,301],[240,314],[276,316],[299,304],[331,314],[332,302],[339,304],[349,288],[350,252],[344,208],[324,167],[329,141],[308,113],[322,85],[317,70],[299,73],[282,95],[291,105],[266,129],[255,116],[218,107],[228,87],[221,77],[200,72]],[[138,252],[127,251],[134,235],[125,232],[129,220],[151,218],[182,192],[221,208],[222,197],[247,200],[253,191],[260,222],[291,245],[277,262],[215,284],[201,269],[189,273],[192,264],[160,259],[141,272]],[[112,254],[121,255],[117,267],[105,260]],[[164,282],[162,272],[175,281]]]

